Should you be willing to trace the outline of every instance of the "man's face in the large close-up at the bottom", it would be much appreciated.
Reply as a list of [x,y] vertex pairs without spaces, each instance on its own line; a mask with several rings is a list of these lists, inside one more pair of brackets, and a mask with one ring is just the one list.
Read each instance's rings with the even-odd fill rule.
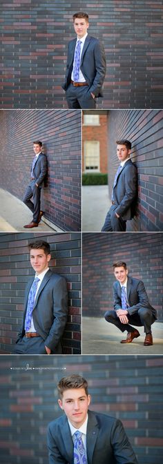
[[86,420],[90,395],[86,395],[84,388],[69,388],[64,391],[62,399],[59,399],[58,403],[73,427],[79,429]]

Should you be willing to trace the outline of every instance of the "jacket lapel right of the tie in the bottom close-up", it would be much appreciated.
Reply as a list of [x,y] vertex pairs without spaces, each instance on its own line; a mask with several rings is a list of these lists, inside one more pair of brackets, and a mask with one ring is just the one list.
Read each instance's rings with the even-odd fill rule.
[[87,457],[88,457],[88,464],[93,462],[93,452],[95,449],[95,443],[97,440],[97,436],[99,433],[98,422],[95,417],[95,414],[91,411],[88,411],[88,424],[87,424],[87,431],[86,431],[86,442],[87,442]]

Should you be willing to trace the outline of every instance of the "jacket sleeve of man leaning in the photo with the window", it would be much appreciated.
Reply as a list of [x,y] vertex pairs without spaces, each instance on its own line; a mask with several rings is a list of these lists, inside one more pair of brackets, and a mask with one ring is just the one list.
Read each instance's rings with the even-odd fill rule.
[[117,207],[115,212],[119,214],[119,216],[123,216],[123,214],[127,211],[127,209],[133,203],[133,200],[137,194],[137,170],[135,166],[131,164],[128,169],[126,169],[126,173],[124,175],[124,182],[125,182],[125,195],[122,198],[120,205]]

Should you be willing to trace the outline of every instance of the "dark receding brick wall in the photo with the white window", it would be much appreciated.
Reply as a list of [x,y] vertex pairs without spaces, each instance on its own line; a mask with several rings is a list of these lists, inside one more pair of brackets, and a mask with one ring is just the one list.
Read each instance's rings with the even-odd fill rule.
[[132,142],[131,160],[137,166],[139,203],[137,217],[128,221],[127,230],[163,230],[163,111],[124,110],[108,112],[109,195],[117,166],[117,139]]

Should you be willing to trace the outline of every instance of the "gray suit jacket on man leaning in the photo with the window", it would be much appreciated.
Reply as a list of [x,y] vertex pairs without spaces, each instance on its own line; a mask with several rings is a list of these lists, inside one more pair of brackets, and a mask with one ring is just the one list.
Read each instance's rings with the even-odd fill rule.
[[137,168],[131,160],[126,161],[113,188],[113,200],[117,204],[115,212],[124,221],[133,218],[137,200]]

